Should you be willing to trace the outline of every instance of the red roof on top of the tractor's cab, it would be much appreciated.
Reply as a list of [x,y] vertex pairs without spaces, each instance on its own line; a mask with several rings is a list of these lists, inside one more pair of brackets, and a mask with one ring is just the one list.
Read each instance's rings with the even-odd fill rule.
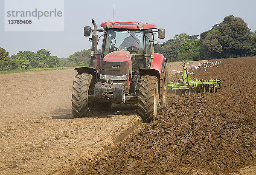
[[130,28],[130,29],[155,29],[157,25],[153,23],[134,23],[134,22],[103,22],[103,28]]

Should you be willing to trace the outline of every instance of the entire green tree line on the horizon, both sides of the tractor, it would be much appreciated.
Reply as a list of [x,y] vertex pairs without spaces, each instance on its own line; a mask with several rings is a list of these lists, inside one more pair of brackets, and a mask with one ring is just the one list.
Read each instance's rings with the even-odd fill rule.
[[[100,51],[100,50],[98,50]],[[256,31],[250,32],[240,17],[233,15],[212,26],[200,35],[176,34],[173,39],[156,45],[155,52],[163,54],[169,62],[179,60],[221,59],[256,55]],[[88,66],[90,49],[84,49],[68,58],[51,56],[50,51],[19,51],[9,56],[0,48],[0,71],[19,68],[48,68]]]

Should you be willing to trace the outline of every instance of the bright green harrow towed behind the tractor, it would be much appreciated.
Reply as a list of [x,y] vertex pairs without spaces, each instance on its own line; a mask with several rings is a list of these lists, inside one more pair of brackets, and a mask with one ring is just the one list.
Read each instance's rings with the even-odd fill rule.
[[168,83],[169,91],[175,94],[190,92],[211,92],[215,93],[221,88],[221,79],[206,79],[198,80],[191,79],[188,72],[188,67],[183,62],[182,78],[178,82]]

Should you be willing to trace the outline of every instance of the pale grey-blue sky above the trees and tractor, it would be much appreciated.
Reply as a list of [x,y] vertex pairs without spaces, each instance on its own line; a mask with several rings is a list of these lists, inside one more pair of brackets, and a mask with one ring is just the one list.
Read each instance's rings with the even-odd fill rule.
[[65,0],[64,32],[5,32],[4,0],[0,0],[0,47],[11,55],[46,48],[52,55],[68,57],[90,48],[83,27],[93,26],[91,19],[98,26],[102,21],[112,21],[113,4],[114,21],[155,23],[166,28],[166,39],[159,42],[180,33],[200,34],[230,14],[244,19],[251,31],[256,30],[256,0]]

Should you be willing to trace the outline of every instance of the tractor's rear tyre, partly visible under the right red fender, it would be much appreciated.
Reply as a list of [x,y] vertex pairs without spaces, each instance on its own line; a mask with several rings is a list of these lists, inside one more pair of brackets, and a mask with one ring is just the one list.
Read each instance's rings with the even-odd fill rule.
[[161,76],[160,76],[160,85],[161,85],[160,87],[161,108],[160,109],[165,108],[167,104],[167,89],[168,89],[167,79],[168,79],[167,63],[165,62],[163,72],[161,73]]

